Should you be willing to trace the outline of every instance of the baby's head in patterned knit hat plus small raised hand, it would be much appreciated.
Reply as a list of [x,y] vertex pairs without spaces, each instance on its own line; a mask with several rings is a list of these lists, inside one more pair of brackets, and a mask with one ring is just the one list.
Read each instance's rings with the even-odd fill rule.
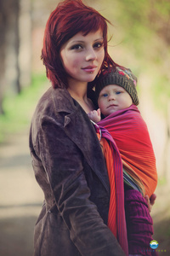
[[101,119],[100,113],[106,117],[132,104],[138,105],[136,82],[137,79],[130,69],[122,70],[117,67],[115,73],[105,74],[95,88],[99,108],[88,113],[88,117],[98,123]]

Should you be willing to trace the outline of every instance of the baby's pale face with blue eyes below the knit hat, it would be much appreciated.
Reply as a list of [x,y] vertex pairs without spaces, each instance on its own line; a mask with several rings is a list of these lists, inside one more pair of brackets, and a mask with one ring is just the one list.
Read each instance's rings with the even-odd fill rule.
[[131,96],[121,86],[109,84],[99,93],[98,105],[101,113],[108,116],[133,104]]

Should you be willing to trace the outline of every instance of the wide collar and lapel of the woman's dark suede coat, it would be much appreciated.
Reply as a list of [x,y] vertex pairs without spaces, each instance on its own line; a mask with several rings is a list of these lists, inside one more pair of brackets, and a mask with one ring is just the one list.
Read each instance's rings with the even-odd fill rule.
[[87,113],[85,113],[80,104],[71,97],[66,89],[52,89],[52,96],[56,111],[66,113],[65,133],[77,144],[88,165],[91,166],[105,186],[105,189],[110,193],[109,178],[99,139]]

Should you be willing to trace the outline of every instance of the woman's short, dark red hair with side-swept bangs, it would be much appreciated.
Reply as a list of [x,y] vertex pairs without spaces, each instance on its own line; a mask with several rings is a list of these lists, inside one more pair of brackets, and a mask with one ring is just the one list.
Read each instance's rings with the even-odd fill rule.
[[101,69],[116,67],[107,51],[107,22],[105,17],[93,8],[82,3],[82,0],[65,0],[59,3],[51,13],[44,32],[42,61],[46,67],[48,79],[54,88],[67,87],[67,74],[61,63],[59,50],[78,32],[86,36],[89,32],[103,31],[105,59]]

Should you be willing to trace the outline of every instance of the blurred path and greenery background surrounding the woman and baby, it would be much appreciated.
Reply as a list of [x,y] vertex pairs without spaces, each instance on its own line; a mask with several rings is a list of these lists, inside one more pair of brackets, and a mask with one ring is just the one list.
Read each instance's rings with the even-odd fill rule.
[[[4,210],[0,214],[0,223],[5,235],[3,240],[8,239],[11,234],[7,229],[9,223],[12,227],[14,225],[14,216],[10,221],[5,218],[7,208],[4,209],[4,205],[8,206],[8,196],[5,200],[3,189],[6,189],[5,179],[10,177],[3,173],[6,173],[4,166],[8,163],[10,153],[7,153],[5,162],[4,151],[7,151],[7,145],[14,143],[15,137],[22,138],[20,134],[27,137],[27,144],[21,147],[28,147],[32,113],[38,98],[50,86],[40,55],[44,27],[48,15],[57,3],[59,1],[54,0],[0,0],[0,175],[3,184],[0,190],[0,210]],[[151,212],[155,223],[155,239],[159,242],[160,255],[170,255],[170,1],[86,0],[84,3],[94,7],[111,21],[111,57],[122,66],[130,67],[138,77],[139,109],[150,131],[159,177],[156,205]],[[15,147],[17,144],[16,139]],[[29,157],[27,151],[26,154]],[[19,162],[22,157],[18,157]],[[33,172],[31,164],[27,172]],[[36,183],[33,177],[31,181]],[[18,182],[19,187],[22,182],[22,179]],[[32,183],[31,188],[34,186]],[[37,213],[42,194],[39,194],[39,190],[34,191],[34,195],[38,194],[39,197],[35,200],[32,195],[29,204],[34,201],[36,206],[31,204],[31,207],[37,207]],[[20,201],[20,205],[23,205],[23,201],[25,198]],[[15,199],[12,202],[13,207],[16,207]],[[32,215],[33,227],[37,216]],[[31,239],[32,233],[29,237]],[[10,239],[13,241],[14,236],[11,235]],[[14,251],[10,254],[10,250],[4,251],[3,248],[3,253],[0,254],[31,255],[32,240],[25,248],[26,251],[22,251],[19,246],[16,254]]]

